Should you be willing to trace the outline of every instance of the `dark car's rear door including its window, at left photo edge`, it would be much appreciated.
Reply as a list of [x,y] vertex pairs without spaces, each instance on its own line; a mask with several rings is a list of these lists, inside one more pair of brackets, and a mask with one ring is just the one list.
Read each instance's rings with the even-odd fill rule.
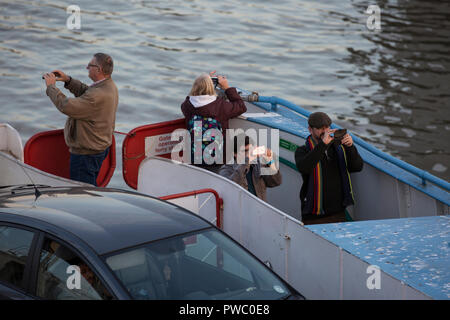
[[27,293],[38,233],[0,222],[0,299],[32,299]]

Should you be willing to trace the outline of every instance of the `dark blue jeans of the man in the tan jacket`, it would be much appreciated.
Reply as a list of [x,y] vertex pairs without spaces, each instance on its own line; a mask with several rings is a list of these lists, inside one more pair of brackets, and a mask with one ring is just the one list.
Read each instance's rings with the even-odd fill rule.
[[87,182],[97,186],[97,176],[103,160],[108,155],[109,147],[97,154],[70,154],[70,179]]

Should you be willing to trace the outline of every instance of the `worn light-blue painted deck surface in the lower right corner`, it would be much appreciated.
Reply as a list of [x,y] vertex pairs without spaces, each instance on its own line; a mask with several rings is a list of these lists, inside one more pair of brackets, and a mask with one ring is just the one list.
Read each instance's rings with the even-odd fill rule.
[[450,299],[450,217],[306,227],[433,299]]

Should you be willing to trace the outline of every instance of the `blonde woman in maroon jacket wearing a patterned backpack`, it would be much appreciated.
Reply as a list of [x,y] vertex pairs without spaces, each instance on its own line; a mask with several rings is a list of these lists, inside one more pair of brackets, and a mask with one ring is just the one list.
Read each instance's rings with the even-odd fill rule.
[[[223,157],[220,161],[211,163],[217,160],[215,158],[217,148],[212,153],[205,153],[204,150],[215,141],[214,132],[217,132],[217,130],[222,132],[221,140],[225,142],[228,120],[246,112],[247,107],[237,93],[236,88],[230,87],[226,77],[220,75],[217,76],[217,83],[225,91],[229,101],[218,97],[211,79],[213,74],[214,72],[210,75],[205,73],[195,79],[189,96],[181,104],[181,111],[186,120],[186,127],[191,133],[191,164],[217,173],[221,165],[225,163],[225,158]],[[195,132],[197,134],[194,134]],[[201,143],[199,142],[200,139]],[[195,143],[196,141],[197,144]],[[223,154],[223,150],[225,150],[223,143],[217,147],[220,148]],[[210,147],[209,149],[212,148]]]

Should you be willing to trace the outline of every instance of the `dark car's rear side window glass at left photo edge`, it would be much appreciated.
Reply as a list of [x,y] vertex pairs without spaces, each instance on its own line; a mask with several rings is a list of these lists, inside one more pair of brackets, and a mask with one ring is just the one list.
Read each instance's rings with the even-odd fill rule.
[[34,232],[0,226],[0,281],[25,289],[25,265]]

